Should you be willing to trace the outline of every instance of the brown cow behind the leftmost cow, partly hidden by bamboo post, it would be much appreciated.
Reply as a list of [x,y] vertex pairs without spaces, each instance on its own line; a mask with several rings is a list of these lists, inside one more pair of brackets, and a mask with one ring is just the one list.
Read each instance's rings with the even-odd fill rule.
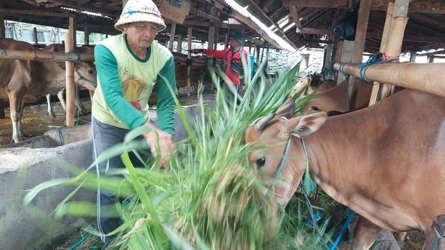
[[[63,52],[65,51],[65,44],[49,44],[47,47],[42,48],[42,51],[58,51],[58,52]],[[76,51],[77,53],[94,53],[94,47],[92,46],[88,46],[88,45],[84,45],[81,47],[76,47]],[[63,64],[65,62],[62,62]],[[90,67],[92,69],[94,69],[93,74],[96,74],[96,65],[92,62],[74,62],[74,67],[78,66],[78,67]],[[94,75],[91,75],[92,77],[95,77]],[[79,83],[79,79],[76,79],[76,83]],[[96,81],[92,82],[92,85],[97,86]],[[79,86],[79,88],[83,88],[82,86]],[[65,90],[65,89],[64,89]],[[63,106],[63,110],[66,110],[66,105],[65,105],[65,99],[63,98],[63,92],[64,90],[60,90],[59,92],[57,92],[57,97],[60,100],[60,103]],[[90,97],[92,97],[92,94],[94,93],[94,89],[90,90]],[[56,117],[56,114],[54,114],[54,111],[51,107],[51,94],[49,93],[47,94],[47,103],[48,103],[48,115],[51,115],[53,117]],[[81,113],[81,115],[83,115],[84,113],[86,113],[86,108],[82,105],[81,101],[78,98],[78,93],[76,93],[76,95],[74,96],[75,99],[75,103],[76,103],[76,108],[77,110],[79,110],[79,112]]]

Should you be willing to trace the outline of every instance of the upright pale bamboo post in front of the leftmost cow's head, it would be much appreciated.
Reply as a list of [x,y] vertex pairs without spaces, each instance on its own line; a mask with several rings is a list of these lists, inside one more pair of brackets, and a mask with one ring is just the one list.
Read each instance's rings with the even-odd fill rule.
[[[70,17],[72,19],[72,17]],[[70,25],[68,33],[65,33],[65,51],[71,51],[74,49],[73,44],[73,28]],[[74,126],[74,63],[65,62],[66,64],[66,124],[67,126]]]

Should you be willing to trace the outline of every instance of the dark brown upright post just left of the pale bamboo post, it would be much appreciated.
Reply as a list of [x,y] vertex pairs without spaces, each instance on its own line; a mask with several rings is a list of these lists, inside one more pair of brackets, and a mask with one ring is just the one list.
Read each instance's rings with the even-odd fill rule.
[[[362,63],[363,60],[364,42],[366,41],[366,30],[368,29],[369,10],[371,10],[371,0],[360,1],[352,63]],[[355,108],[358,88],[358,79],[355,76],[351,76],[348,79],[348,110],[353,110]]]

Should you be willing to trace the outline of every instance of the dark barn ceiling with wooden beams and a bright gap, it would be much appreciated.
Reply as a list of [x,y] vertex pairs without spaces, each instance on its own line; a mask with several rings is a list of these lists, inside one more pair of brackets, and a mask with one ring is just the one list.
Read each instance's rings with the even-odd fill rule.
[[[162,1],[155,0],[160,6]],[[179,1],[179,0],[170,0]],[[177,24],[176,35],[186,38],[193,28],[195,40],[208,40],[209,27],[218,31],[218,42],[234,30],[244,31],[248,44],[271,45],[277,49],[323,47],[332,43],[333,24],[352,10],[356,0],[191,0],[190,11]],[[375,53],[385,24],[385,10],[391,0],[373,0],[364,51]],[[180,1],[179,1],[180,2]],[[248,11],[246,15],[245,10]],[[122,11],[122,0],[0,0],[0,15],[5,19],[67,28],[74,17],[76,30],[118,34],[113,24]],[[102,14],[102,15],[97,15]],[[445,47],[445,1],[411,0],[409,20],[402,51],[423,51]],[[174,22],[158,38],[170,38]]]

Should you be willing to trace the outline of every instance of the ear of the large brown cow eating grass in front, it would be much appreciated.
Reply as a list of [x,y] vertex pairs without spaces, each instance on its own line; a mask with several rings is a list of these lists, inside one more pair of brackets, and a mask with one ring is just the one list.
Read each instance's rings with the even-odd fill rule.
[[286,131],[290,131],[292,135],[304,138],[317,131],[326,122],[326,117],[325,112],[317,112],[290,119],[284,123],[284,126],[286,126]]

